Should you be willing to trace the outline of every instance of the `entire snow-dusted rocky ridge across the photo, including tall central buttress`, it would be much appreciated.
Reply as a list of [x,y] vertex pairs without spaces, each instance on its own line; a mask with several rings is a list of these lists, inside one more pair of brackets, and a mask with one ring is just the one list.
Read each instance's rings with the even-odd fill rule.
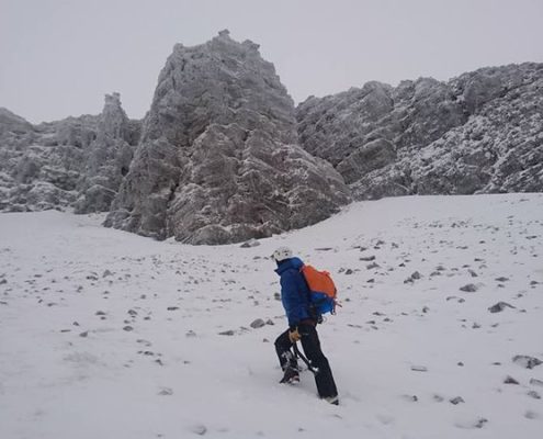
[[[250,41],[174,46],[144,121],[32,125],[0,109],[0,212],[110,212],[105,225],[225,244],[354,199],[543,191],[543,65],[308,98],[294,108]],[[134,158],[134,159],[133,159]],[[346,184],[347,183],[347,184]]]

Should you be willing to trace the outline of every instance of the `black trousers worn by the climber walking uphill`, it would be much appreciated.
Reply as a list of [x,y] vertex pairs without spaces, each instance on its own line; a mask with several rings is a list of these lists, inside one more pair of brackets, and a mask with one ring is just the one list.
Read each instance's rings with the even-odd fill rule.
[[[320,397],[337,396],[338,390],[333,382],[333,376],[330,370],[328,359],[320,349],[317,329],[310,324],[299,324],[298,333],[302,336],[299,340],[304,353],[313,367],[318,369],[315,375],[315,383]],[[287,367],[297,368],[296,358],[291,352],[292,342],[289,339],[289,330],[281,334],[275,340],[275,352],[279,357],[281,368],[285,370]]]

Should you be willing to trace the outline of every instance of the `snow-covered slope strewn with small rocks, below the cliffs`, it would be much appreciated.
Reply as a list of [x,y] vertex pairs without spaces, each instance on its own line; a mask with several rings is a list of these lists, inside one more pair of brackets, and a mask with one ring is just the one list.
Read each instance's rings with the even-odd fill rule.
[[[543,194],[355,203],[251,248],[100,221],[0,215],[2,439],[543,437],[543,365],[513,361],[543,360]],[[279,245],[338,284],[339,407],[278,383]]]

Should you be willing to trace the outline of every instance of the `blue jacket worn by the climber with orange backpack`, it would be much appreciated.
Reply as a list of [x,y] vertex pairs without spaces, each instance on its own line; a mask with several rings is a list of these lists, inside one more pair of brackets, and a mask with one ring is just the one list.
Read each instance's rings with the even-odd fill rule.
[[298,258],[281,261],[275,272],[281,277],[281,302],[285,308],[289,326],[312,318],[309,314],[310,292],[304,274],[299,271],[304,262]]

